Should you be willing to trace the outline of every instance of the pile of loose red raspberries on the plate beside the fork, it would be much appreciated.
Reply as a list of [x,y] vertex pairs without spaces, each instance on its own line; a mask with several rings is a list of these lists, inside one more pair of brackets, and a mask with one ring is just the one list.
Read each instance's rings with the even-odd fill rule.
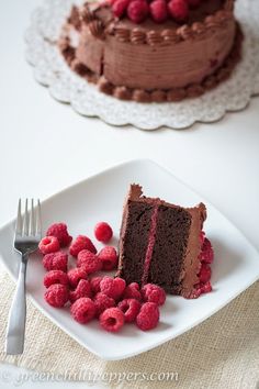
[[[94,229],[95,238],[108,243],[113,231],[101,222]],[[68,270],[68,254],[60,247],[68,247],[76,258],[76,267]],[[104,246],[99,253],[92,241],[79,235],[72,241],[65,223],[55,223],[47,230],[38,248],[43,266],[47,270],[44,286],[45,300],[55,308],[70,303],[72,318],[86,324],[98,319],[102,329],[117,332],[125,323],[136,323],[143,330],[155,329],[159,322],[159,305],[166,301],[166,293],[159,286],[147,284],[139,288],[137,282],[126,285],[123,278],[92,275],[100,270],[117,267],[117,253],[112,246]]]

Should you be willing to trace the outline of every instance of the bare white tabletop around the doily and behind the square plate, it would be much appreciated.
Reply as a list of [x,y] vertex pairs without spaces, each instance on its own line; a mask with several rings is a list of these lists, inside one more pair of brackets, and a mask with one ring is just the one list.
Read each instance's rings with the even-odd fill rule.
[[[147,157],[207,198],[259,249],[259,99],[221,122],[183,131],[145,132],[82,118],[53,100],[24,59],[24,31],[37,4],[0,3],[0,225],[15,215],[19,197],[45,199],[108,166]],[[10,371],[10,382],[2,371]],[[1,365],[0,388],[12,387],[20,371]],[[45,386],[22,387],[35,385]]]

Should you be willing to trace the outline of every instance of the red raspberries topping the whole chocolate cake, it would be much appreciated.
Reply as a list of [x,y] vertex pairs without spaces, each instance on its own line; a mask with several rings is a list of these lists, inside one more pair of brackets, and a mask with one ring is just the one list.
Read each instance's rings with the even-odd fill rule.
[[156,23],[168,19],[177,23],[188,21],[190,9],[198,8],[204,0],[108,0],[115,18],[127,16],[134,23],[142,23],[148,16]]

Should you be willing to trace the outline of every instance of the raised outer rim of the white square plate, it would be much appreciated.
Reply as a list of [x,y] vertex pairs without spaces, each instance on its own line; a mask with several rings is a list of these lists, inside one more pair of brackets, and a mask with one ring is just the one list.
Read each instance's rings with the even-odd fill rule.
[[[180,178],[178,178],[177,176],[174,176],[174,174],[172,174],[168,168],[161,166],[160,164],[158,164],[157,162],[155,162],[154,159],[150,158],[134,158],[134,159],[128,159],[125,160],[123,163],[119,163],[116,165],[111,165],[95,174],[92,174],[90,176],[88,176],[87,178],[83,178],[61,190],[59,190],[58,192],[55,192],[54,194],[47,197],[46,199],[44,199],[42,201],[42,203],[46,203],[48,201],[52,201],[53,199],[55,199],[56,197],[59,197],[60,194],[63,194],[66,191],[72,190],[74,188],[83,185],[85,182],[94,179],[94,178],[99,178],[100,176],[105,175],[106,173],[110,173],[112,170],[115,169],[120,169],[120,168],[124,168],[126,166],[131,166],[134,164],[148,164],[148,165],[155,165],[156,167],[158,167],[159,169],[166,171],[167,174],[169,174],[170,176],[173,177],[173,179],[176,179],[178,182],[180,182],[181,185],[183,185],[184,187],[187,187],[189,190],[191,190],[194,194],[196,194],[198,197],[201,197],[203,199],[203,201],[206,202],[206,204],[209,207],[214,208],[222,218],[224,218],[225,221],[227,221],[233,229],[236,230],[236,232],[238,234],[240,234],[243,236],[243,238],[246,241],[246,244],[250,246],[250,248],[254,251],[255,255],[259,256],[259,252],[258,249],[250,243],[250,241],[247,238],[247,236],[232,222],[228,220],[228,218],[225,216],[225,214],[223,212],[221,212],[217,207],[215,207],[211,201],[207,201],[205,197],[201,196],[196,190],[194,190],[191,186],[189,186],[188,184],[185,184],[183,180],[181,180]],[[13,223],[15,222],[15,218],[11,219],[9,222],[4,223],[2,226],[0,226],[0,235],[2,234],[2,232],[4,232],[8,227],[10,227]],[[10,247],[12,248],[12,247]],[[11,276],[12,280],[14,282],[16,282],[16,276],[10,270],[10,268],[7,266],[5,260],[2,257],[2,254],[0,253],[0,262],[3,265],[4,269],[7,270],[7,273]],[[196,325],[201,324],[202,322],[204,322],[205,320],[207,320],[209,318],[211,318],[212,315],[214,315],[216,312],[221,311],[224,307],[226,307],[229,302],[232,302],[236,297],[238,297],[241,292],[246,291],[250,286],[252,286],[257,280],[259,279],[259,273],[255,274],[255,276],[249,279],[249,281],[245,282],[245,287],[243,286],[241,288],[237,288],[235,290],[234,293],[232,293],[227,300],[224,300],[219,305],[217,305],[215,309],[212,309],[207,314],[205,314],[205,316],[202,316],[201,319],[199,318],[196,321],[192,322],[190,325],[188,325],[187,327],[184,327],[183,330],[179,330],[178,332],[176,332],[173,334],[173,337],[170,336],[170,333],[168,334],[168,336],[166,336],[162,340],[158,340],[153,342],[151,344],[147,344],[145,345],[142,351],[137,351],[136,353],[134,351],[128,352],[128,353],[124,353],[123,355],[113,355],[111,356],[110,354],[105,354],[105,349],[104,353],[100,354],[98,351],[93,349],[91,346],[83,344],[83,342],[81,342],[81,340],[77,336],[77,334],[72,333],[69,331],[69,329],[67,329],[66,326],[63,325],[63,323],[60,323],[58,320],[56,320],[55,316],[53,316],[48,311],[46,311],[33,297],[32,293],[26,292],[26,296],[30,297],[32,303],[34,304],[34,307],[36,307],[40,312],[42,314],[44,314],[46,318],[48,318],[50,320],[52,323],[54,323],[55,325],[57,325],[60,330],[63,330],[65,332],[65,334],[67,334],[68,336],[70,336],[72,340],[75,340],[78,344],[80,344],[83,348],[86,348],[87,351],[91,352],[92,354],[94,354],[95,356],[98,356],[99,358],[103,359],[103,360],[123,360],[130,357],[134,357],[137,355],[140,355],[147,351],[154,349],[155,347],[158,347],[160,345],[162,345],[164,343],[167,343],[169,341],[174,340],[176,337],[187,333],[188,331],[190,331],[191,329],[194,329]],[[154,337],[155,340],[155,337]]]

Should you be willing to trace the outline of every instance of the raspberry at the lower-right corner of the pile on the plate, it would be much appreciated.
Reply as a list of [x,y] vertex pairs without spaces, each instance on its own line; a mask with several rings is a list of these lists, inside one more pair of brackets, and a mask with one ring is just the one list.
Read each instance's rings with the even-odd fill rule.
[[142,331],[153,330],[159,322],[159,309],[155,302],[145,302],[136,318],[137,326]]

